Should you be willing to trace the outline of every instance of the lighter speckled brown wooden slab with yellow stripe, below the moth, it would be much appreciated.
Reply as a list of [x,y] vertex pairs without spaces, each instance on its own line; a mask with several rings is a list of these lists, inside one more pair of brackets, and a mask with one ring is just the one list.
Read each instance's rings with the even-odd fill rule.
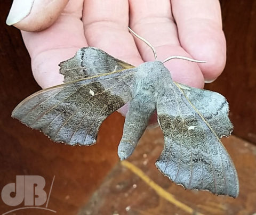
[[[136,150],[128,159],[154,181],[173,195],[176,201],[167,201],[166,194],[158,194],[153,186],[145,183],[137,173],[121,162],[109,173],[102,186],[79,215],[127,214],[218,214],[249,215],[256,212],[256,146],[235,136],[223,138],[238,172],[240,192],[237,199],[215,196],[207,191],[189,191],[175,185],[155,167],[155,161],[163,149],[163,134],[160,128],[147,130]],[[178,202],[184,204],[179,207]],[[191,212],[186,211],[186,206]]]

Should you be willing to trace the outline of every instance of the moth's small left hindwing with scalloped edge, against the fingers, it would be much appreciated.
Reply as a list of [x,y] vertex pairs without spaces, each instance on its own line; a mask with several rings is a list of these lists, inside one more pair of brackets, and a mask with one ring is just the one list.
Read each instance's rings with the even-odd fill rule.
[[134,68],[133,65],[118,60],[99,48],[83,47],[75,56],[59,64],[64,82],[99,76],[104,73]]

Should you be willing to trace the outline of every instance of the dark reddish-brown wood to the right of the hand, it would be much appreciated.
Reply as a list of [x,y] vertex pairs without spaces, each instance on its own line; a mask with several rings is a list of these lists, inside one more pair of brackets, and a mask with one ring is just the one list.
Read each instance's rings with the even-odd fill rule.
[[234,135],[256,144],[256,1],[220,1],[227,39],[222,75],[205,86],[226,96]]

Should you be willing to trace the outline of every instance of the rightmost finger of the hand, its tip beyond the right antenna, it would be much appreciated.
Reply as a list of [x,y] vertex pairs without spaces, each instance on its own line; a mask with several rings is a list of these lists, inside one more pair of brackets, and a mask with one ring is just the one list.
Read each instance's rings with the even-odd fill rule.
[[171,0],[181,46],[199,64],[206,81],[217,78],[226,63],[226,40],[217,0]]

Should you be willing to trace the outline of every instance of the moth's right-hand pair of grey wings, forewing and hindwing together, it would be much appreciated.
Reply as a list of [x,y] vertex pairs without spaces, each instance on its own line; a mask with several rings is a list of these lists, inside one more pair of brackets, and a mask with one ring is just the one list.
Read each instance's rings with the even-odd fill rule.
[[[227,101],[208,90],[191,92],[194,88],[189,88],[188,95],[183,92],[185,87],[172,82],[159,95],[157,114],[165,143],[156,166],[165,176],[187,189],[237,197],[237,173],[219,139],[230,134],[232,129],[227,117]],[[199,104],[196,101],[200,101]],[[223,132],[218,129],[222,123]]]

